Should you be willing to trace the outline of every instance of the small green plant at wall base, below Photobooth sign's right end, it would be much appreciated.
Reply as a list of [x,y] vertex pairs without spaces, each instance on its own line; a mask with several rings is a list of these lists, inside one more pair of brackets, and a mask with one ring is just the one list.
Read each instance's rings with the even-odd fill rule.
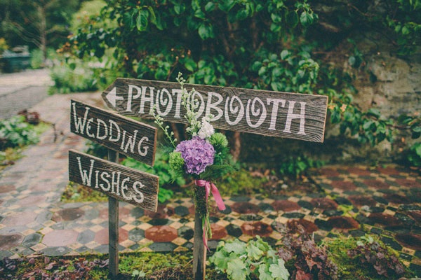
[[319,168],[321,166],[323,166],[323,162],[308,158],[306,155],[290,156],[289,158],[283,159],[279,172],[282,175],[298,178],[308,169]]

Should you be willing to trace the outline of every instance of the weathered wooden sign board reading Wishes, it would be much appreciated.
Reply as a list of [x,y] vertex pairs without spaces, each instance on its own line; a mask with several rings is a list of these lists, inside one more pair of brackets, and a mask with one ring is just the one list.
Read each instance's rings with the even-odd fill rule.
[[156,212],[158,176],[70,150],[69,181]]

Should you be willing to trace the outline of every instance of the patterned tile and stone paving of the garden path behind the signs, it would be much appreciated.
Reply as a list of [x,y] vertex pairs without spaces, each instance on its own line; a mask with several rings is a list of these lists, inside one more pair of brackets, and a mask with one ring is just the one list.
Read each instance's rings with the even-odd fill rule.
[[[55,129],[0,174],[0,258],[108,251],[108,204],[60,202],[67,185],[67,153],[85,150],[85,141],[69,132],[70,99],[103,107],[95,93],[54,95],[32,109]],[[255,235],[279,244],[276,225],[296,221],[317,240],[380,235],[421,276],[420,170],[335,165],[318,169],[311,179],[319,192],[224,197],[227,209],[210,217],[210,248],[220,239],[247,241]],[[156,213],[121,202],[119,251],[192,250],[193,213],[189,198],[160,204]]]

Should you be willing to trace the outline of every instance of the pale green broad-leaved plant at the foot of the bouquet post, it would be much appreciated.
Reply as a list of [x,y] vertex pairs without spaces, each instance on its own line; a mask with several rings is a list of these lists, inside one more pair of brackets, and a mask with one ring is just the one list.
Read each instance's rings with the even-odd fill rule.
[[227,274],[229,279],[288,279],[284,262],[267,242],[259,236],[247,243],[234,239],[220,241],[209,258],[215,269]]

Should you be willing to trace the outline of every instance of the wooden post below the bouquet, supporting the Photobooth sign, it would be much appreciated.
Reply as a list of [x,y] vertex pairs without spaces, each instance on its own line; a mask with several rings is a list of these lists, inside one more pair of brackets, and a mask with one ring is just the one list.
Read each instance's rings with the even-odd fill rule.
[[206,248],[203,244],[203,210],[206,209],[205,188],[194,186],[194,239],[193,239],[193,278],[205,279],[206,274]]

